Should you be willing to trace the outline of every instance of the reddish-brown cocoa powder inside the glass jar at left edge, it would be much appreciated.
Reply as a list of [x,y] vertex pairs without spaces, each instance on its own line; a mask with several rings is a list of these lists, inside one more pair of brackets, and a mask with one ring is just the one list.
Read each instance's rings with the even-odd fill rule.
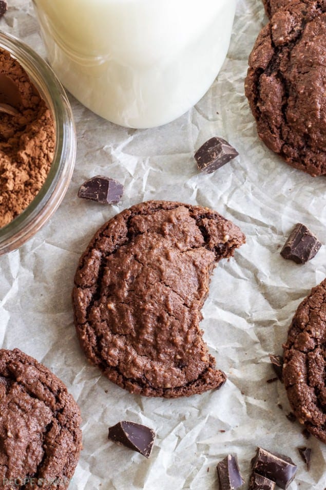
[[49,108],[24,68],[0,49],[0,102],[17,115],[0,113],[0,228],[22,213],[49,173],[55,127]]

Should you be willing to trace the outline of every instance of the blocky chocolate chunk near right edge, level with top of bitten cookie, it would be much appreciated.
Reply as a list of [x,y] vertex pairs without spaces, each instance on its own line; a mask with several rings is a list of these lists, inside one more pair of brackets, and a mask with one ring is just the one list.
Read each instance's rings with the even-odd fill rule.
[[296,263],[305,263],[316,255],[320,247],[315,235],[304,224],[297,223],[280,254]]

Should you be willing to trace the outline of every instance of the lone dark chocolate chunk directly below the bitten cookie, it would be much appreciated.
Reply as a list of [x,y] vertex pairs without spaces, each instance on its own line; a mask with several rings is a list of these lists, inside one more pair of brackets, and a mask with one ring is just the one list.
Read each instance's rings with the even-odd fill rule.
[[123,420],[109,427],[108,438],[149,458],[154,444],[155,432],[146,425]]

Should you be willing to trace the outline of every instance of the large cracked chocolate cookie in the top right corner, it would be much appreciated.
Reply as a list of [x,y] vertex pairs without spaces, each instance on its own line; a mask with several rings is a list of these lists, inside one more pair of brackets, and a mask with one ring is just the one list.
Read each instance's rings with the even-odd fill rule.
[[245,95],[258,135],[312,176],[326,174],[326,1],[292,0],[258,35]]

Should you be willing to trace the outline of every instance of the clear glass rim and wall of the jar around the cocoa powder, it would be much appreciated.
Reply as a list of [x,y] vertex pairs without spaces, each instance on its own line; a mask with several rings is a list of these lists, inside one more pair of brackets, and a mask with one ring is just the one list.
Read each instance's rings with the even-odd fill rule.
[[53,162],[40,192],[20,215],[0,228],[0,255],[2,255],[17,249],[31,238],[61,203],[73,172],[76,134],[68,98],[49,65],[29,46],[2,32],[0,32],[0,47],[9,51],[11,56],[21,64],[30,81],[39,90],[52,112],[56,133]]

